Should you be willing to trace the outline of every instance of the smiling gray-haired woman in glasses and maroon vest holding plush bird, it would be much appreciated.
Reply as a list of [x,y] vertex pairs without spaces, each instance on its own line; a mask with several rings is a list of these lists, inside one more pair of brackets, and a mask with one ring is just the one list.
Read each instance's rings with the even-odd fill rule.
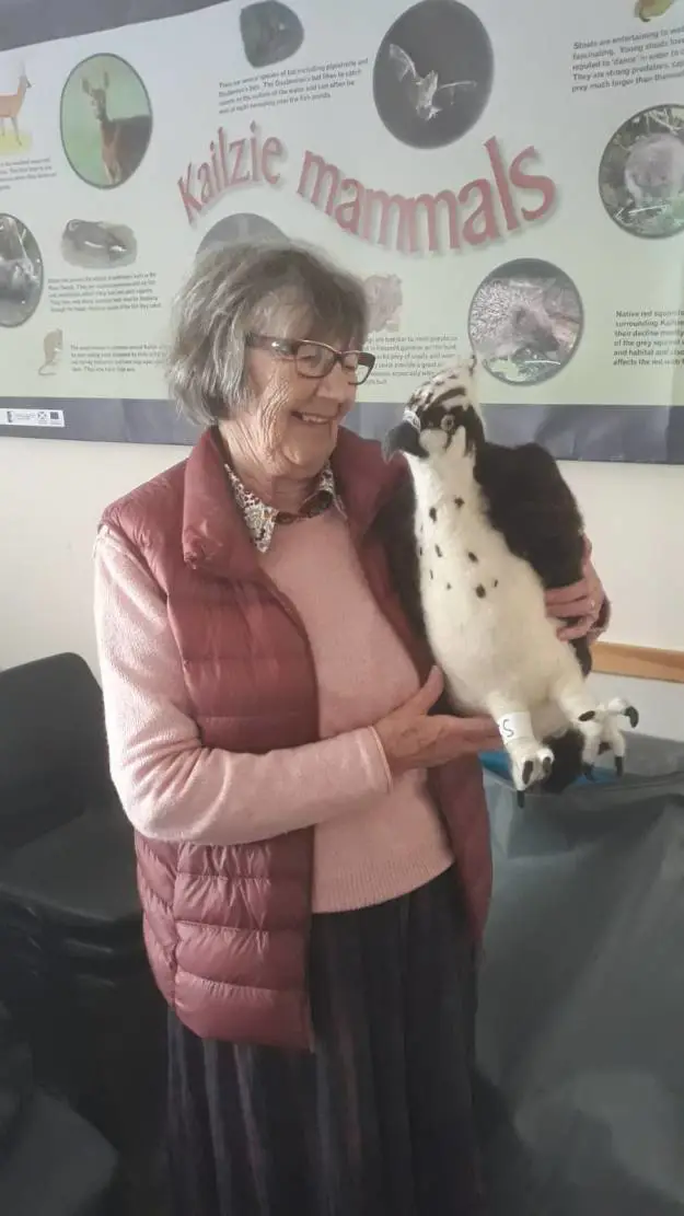
[[[429,714],[440,676],[379,528],[406,469],[341,427],[364,336],[361,287],[310,252],[204,260],[170,351],[204,433],[97,537],[179,1216],[484,1210],[477,753],[498,736]],[[587,631],[601,603],[588,569],[550,607]]]

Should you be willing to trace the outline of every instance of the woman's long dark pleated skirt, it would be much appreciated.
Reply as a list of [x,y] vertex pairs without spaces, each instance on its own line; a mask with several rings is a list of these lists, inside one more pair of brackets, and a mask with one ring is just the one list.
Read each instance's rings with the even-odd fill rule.
[[480,1216],[474,951],[453,872],[313,917],[316,1052],[169,1023],[175,1216]]

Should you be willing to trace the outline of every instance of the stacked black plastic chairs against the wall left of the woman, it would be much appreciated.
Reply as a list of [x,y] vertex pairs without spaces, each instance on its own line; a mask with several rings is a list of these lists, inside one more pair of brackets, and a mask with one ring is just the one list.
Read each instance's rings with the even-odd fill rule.
[[101,691],[75,654],[0,672],[0,1000],[39,1082],[140,1158],[158,1127],[164,1008]]

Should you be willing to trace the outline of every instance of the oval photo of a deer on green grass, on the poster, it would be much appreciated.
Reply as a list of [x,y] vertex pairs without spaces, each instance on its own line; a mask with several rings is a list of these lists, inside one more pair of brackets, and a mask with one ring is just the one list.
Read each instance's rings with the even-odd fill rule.
[[74,69],[62,96],[62,141],[84,181],[103,188],[128,181],[151,135],[147,92],[129,63],[96,55]]

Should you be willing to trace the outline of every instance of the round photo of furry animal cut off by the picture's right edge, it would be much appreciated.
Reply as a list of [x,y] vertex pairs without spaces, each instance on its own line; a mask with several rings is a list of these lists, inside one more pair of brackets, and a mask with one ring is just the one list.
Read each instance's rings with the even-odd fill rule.
[[603,204],[626,232],[677,236],[684,229],[684,106],[655,106],[628,118],[599,167]]

